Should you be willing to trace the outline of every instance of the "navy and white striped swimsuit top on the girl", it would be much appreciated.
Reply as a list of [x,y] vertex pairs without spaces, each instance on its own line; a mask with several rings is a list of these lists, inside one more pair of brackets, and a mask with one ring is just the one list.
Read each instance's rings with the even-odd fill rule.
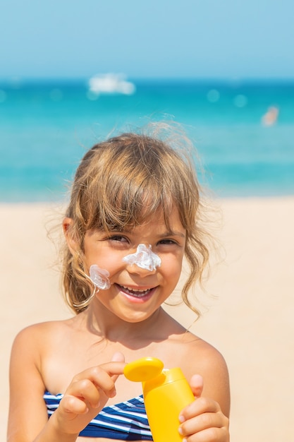
[[[56,410],[63,395],[44,393],[48,416]],[[122,441],[152,441],[142,395],[104,407],[79,436],[121,439]]]

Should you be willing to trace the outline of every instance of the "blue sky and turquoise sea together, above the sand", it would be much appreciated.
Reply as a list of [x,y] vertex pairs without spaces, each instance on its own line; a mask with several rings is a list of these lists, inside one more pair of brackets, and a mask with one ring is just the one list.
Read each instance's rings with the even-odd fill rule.
[[294,191],[290,0],[1,0],[0,201],[56,201],[111,133],[183,125],[219,196]]

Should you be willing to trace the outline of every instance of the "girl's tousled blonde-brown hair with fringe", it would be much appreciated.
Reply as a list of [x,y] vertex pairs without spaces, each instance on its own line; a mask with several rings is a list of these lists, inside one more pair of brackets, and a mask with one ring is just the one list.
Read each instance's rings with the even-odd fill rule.
[[77,247],[75,251],[66,247],[63,254],[63,292],[75,313],[86,308],[93,292],[84,268],[85,232],[135,227],[158,209],[163,210],[169,227],[169,215],[176,207],[187,232],[185,258],[190,268],[182,298],[199,314],[188,292],[195,282],[201,282],[209,250],[204,241],[207,232],[201,227],[200,185],[190,145],[181,146],[177,136],[162,140],[123,133],[94,145],[82,158],[66,211]]

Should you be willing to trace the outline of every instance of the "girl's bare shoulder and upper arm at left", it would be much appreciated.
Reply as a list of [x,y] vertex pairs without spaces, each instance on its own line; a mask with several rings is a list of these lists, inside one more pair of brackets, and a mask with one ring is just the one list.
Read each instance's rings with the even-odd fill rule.
[[[9,369],[10,404],[8,438],[11,441],[35,440],[48,421],[43,394],[43,359],[54,330],[65,330],[63,321],[39,323],[21,330],[13,342]],[[27,404],[30,404],[27,407]]]

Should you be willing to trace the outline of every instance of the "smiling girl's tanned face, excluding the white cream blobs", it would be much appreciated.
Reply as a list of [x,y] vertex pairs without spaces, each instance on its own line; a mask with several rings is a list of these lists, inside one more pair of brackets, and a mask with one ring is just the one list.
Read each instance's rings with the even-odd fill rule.
[[[144,225],[131,230],[110,234],[94,230],[85,235],[87,270],[97,264],[110,274],[111,287],[101,289],[97,299],[124,321],[140,322],[149,318],[176,287],[182,269],[186,232],[176,209],[169,222],[171,232],[164,223],[163,214],[157,212]],[[152,246],[161,265],[147,270],[123,261],[125,256],[136,252],[139,244]]]

